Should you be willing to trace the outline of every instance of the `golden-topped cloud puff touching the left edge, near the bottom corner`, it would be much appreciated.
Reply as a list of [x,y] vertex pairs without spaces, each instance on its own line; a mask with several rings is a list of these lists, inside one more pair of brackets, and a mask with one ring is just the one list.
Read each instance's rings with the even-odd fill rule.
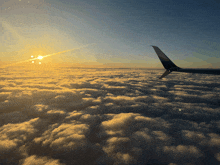
[[[25,143],[29,143],[44,125],[39,118],[17,124],[5,124],[0,127],[0,159],[2,162],[15,163],[16,159],[21,159],[23,153],[19,148]],[[8,155],[11,155],[8,157]]]

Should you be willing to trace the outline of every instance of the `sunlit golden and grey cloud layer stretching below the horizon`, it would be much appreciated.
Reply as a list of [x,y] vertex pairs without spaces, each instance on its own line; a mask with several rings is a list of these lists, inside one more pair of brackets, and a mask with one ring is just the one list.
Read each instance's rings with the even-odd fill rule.
[[219,164],[219,76],[0,70],[2,164]]

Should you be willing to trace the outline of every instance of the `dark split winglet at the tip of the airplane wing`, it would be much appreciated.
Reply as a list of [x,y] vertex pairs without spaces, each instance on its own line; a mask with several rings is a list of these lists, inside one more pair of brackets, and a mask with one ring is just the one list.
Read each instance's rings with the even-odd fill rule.
[[160,79],[167,76],[172,71],[180,69],[157,46],[152,46],[152,47],[154,48],[155,52],[157,53],[164,68],[166,69],[166,72],[160,77]]

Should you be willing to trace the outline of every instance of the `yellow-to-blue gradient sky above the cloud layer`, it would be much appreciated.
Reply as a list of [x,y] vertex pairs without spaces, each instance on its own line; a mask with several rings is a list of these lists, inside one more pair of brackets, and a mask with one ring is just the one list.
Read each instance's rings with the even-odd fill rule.
[[4,0],[0,59],[87,45],[45,62],[162,67],[156,45],[181,67],[219,68],[219,9],[217,0]]

